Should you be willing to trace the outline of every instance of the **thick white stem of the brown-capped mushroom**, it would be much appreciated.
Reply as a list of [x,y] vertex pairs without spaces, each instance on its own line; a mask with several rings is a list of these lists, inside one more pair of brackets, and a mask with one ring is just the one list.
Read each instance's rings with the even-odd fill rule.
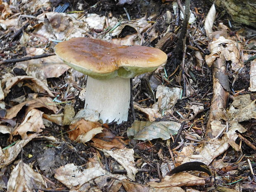
[[100,113],[100,119],[105,123],[107,120],[128,120],[130,105],[130,79],[111,78],[98,80],[88,76],[85,92],[85,108],[94,109]]

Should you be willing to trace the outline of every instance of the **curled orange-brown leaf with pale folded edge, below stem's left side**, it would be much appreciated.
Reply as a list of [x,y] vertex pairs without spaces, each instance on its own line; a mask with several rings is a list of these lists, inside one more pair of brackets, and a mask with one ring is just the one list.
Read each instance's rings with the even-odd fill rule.
[[85,121],[84,119],[70,124],[69,129],[71,130],[68,132],[70,140],[76,140],[78,142],[90,141],[97,133],[102,133],[100,123]]

